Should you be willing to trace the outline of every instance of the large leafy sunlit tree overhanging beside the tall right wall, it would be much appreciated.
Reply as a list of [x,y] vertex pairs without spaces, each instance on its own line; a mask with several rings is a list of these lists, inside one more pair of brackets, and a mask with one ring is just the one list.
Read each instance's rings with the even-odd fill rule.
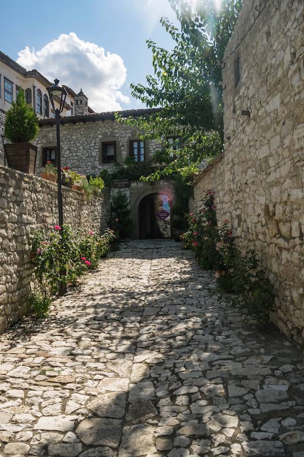
[[152,51],[154,76],[147,85],[131,84],[132,95],[148,108],[162,107],[149,115],[121,118],[138,128],[142,139],[156,139],[169,150],[168,136],[180,136],[174,160],[151,174],[155,180],[174,171],[194,168],[204,158],[222,150],[221,61],[242,0],[200,0],[194,8],[185,0],[169,0],[180,29],[166,18],[161,24],[175,42],[172,50],[147,40]]

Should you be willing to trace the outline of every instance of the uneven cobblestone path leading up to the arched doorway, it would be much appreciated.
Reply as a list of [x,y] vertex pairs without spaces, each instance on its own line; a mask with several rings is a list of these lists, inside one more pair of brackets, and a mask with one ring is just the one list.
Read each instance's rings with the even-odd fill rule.
[[304,456],[304,357],[171,241],[129,242],[0,336],[0,455]]

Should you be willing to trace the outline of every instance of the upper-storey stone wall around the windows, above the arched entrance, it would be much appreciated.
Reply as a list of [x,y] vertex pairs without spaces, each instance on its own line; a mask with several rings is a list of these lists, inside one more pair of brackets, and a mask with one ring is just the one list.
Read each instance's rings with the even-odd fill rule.
[[[136,129],[113,120],[65,123],[60,128],[61,164],[79,173],[99,175],[100,170],[114,167],[113,164],[102,162],[102,142],[115,140],[117,162],[123,163],[129,156],[129,141],[138,138]],[[56,146],[56,126],[41,127],[33,143],[38,146],[36,174],[40,174],[42,148]],[[157,147],[155,141],[146,142],[146,160],[156,152]]]

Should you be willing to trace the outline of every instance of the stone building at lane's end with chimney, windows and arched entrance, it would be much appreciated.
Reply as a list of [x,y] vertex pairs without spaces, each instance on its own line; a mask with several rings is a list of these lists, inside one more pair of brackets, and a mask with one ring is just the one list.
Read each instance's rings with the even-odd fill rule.
[[[79,102],[81,103],[78,103]],[[136,129],[117,122],[115,112],[88,113],[88,99],[81,92],[75,99],[75,115],[61,120],[61,164],[81,174],[99,176],[100,171],[113,170],[134,156],[138,162],[151,159],[161,147],[155,141],[141,141]],[[123,117],[140,116],[155,110],[121,111]],[[56,127],[54,119],[40,120],[37,170],[39,174],[50,157],[55,157]],[[117,182],[111,197],[118,190],[126,193],[134,221],[133,238],[158,238],[172,235],[173,186],[171,180],[156,183],[141,181]]]

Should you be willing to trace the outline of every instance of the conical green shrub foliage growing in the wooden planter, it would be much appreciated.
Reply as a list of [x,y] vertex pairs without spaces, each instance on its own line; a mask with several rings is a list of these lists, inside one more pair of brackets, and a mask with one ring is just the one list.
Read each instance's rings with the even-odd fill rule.
[[36,138],[39,132],[38,118],[32,107],[25,102],[24,91],[19,88],[16,102],[6,114],[4,136],[11,143],[25,143]]

